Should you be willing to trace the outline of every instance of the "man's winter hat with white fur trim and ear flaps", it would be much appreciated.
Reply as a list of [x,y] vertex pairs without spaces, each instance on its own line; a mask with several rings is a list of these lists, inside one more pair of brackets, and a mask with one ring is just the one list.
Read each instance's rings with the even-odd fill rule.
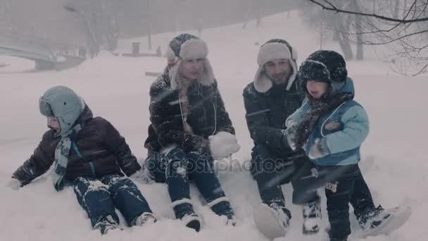
[[275,59],[288,59],[293,68],[287,89],[291,88],[297,75],[297,51],[284,39],[270,39],[260,47],[257,55],[258,70],[254,78],[254,87],[258,92],[267,92],[272,87],[272,80],[265,73],[265,64]]

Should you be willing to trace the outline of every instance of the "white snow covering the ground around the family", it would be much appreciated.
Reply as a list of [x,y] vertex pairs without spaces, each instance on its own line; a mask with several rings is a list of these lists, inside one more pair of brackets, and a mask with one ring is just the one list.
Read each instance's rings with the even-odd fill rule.
[[[191,32],[195,33],[195,32]],[[165,49],[178,33],[153,36],[153,45]],[[287,39],[297,50],[301,61],[318,49],[316,33],[306,30],[298,13],[279,14],[263,19],[260,28],[248,25],[205,30],[202,38],[210,49],[209,59],[220,85],[226,109],[232,118],[241,150],[233,156],[238,163],[250,157],[252,141],[245,123],[242,89],[256,71],[256,54],[270,38]],[[131,42],[122,41],[120,52],[129,52]],[[329,43],[328,49],[340,50]],[[143,48],[144,49],[144,48]],[[144,50],[143,50],[144,51]],[[377,53],[365,48],[364,62],[348,62],[348,73],[355,80],[356,99],[369,113],[371,130],[362,148],[361,166],[370,185],[374,201],[384,207],[409,204],[413,216],[401,229],[389,236],[367,237],[367,241],[428,240],[424,221],[428,214],[428,162],[426,155],[427,113],[424,104],[428,82],[422,77],[396,75],[389,66],[377,60]],[[194,233],[174,220],[170,199],[163,184],[139,183],[141,191],[160,218],[146,227],[125,228],[101,237],[92,231],[84,211],[77,204],[73,190],[56,192],[43,176],[20,190],[6,187],[11,173],[23,163],[46,131],[46,118],[39,114],[38,99],[53,85],[67,85],[87,101],[96,116],[111,121],[127,138],[134,154],[142,161],[149,125],[149,86],[153,77],[145,72],[160,72],[164,58],[126,58],[102,53],[78,68],[61,72],[11,73],[34,66],[28,61],[2,56],[11,66],[0,69],[0,239],[1,240],[266,240],[253,223],[253,206],[260,203],[256,183],[249,173],[237,168],[220,172],[220,182],[237,213],[239,224],[222,225],[192,187],[196,212],[203,216],[203,230]],[[219,161],[218,166],[227,165]],[[220,169],[220,168],[219,168]],[[289,208],[294,218],[287,237],[278,240],[326,240],[325,233],[315,237],[301,234],[301,209],[291,204],[291,187],[284,185]],[[325,207],[325,199],[323,206]],[[352,216],[352,215],[351,215]],[[327,225],[327,215],[324,218]],[[355,227],[355,218],[352,219]],[[122,222],[123,223],[123,222]]]

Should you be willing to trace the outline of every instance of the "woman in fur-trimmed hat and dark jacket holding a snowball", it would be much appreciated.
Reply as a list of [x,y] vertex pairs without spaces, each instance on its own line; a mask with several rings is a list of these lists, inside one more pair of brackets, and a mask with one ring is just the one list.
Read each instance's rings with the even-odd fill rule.
[[208,47],[189,34],[178,35],[169,45],[177,62],[151,85],[144,171],[168,184],[175,216],[187,227],[201,228],[190,201],[189,180],[215,214],[233,225],[234,213],[213,161],[237,152],[239,145],[207,58]]

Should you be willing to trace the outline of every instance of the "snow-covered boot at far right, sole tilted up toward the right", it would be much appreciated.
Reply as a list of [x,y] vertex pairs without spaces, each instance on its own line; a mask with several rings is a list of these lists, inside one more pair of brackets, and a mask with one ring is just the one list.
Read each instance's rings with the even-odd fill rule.
[[384,209],[379,205],[375,209],[366,211],[358,218],[358,223],[363,230],[362,237],[391,233],[408,221],[411,214],[410,206]]

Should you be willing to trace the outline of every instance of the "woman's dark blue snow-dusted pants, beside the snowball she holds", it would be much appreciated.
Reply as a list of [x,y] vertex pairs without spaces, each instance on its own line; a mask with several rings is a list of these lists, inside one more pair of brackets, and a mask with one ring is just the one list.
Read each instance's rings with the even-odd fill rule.
[[202,152],[186,153],[180,148],[149,155],[144,168],[158,183],[166,183],[176,218],[194,212],[190,202],[189,180],[196,187],[208,206],[219,216],[232,218],[233,211],[214,173],[213,158]]

